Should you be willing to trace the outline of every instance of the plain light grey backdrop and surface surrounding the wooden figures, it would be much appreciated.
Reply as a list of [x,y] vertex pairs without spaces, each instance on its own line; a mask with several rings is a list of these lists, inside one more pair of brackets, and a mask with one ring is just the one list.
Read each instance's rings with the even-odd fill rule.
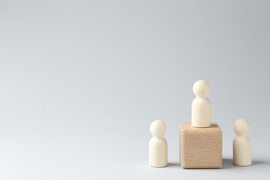
[[[0,1],[0,179],[269,179],[269,1]],[[179,123],[211,85],[219,170],[183,170]],[[253,165],[232,165],[233,123]],[[166,168],[148,165],[167,124]]]

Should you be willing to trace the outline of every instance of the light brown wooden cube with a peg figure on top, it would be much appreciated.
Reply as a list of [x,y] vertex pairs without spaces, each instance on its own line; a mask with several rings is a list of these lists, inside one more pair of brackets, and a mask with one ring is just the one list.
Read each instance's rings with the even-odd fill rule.
[[222,168],[222,130],[180,124],[180,160],[182,168]]

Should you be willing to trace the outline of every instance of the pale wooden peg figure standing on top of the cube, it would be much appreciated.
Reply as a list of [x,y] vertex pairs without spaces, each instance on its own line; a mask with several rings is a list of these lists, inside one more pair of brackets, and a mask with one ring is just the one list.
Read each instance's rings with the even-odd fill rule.
[[196,98],[192,101],[191,125],[193,127],[210,127],[211,103],[207,96],[210,85],[205,80],[198,80],[193,85]]

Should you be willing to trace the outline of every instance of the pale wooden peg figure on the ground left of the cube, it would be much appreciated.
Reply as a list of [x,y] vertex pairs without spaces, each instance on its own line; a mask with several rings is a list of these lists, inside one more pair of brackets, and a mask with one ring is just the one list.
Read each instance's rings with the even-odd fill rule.
[[153,137],[149,142],[149,165],[153,167],[164,167],[168,163],[168,143],[163,138],[166,125],[161,120],[154,120],[150,126]]

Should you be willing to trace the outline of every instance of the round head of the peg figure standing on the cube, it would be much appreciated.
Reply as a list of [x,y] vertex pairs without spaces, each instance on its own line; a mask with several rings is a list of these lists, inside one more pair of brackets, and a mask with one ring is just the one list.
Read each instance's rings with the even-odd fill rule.
[[199,98],[207,98],[210,93],[210,85],[205,80],[197,80],[193,85],[193,92]]

